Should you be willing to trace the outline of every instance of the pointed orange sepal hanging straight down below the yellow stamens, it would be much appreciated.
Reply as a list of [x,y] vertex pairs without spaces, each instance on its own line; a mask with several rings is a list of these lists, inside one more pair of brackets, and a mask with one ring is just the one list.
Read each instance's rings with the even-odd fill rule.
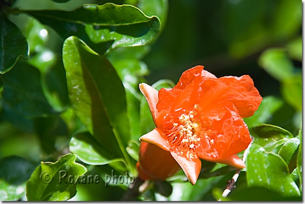
[[178,162],[189,182],[192,185],[195,185],[201,170],[201,161],[199,158],[186,158],[185,155],[182,155],[176,150],[171,151],[171,155]]

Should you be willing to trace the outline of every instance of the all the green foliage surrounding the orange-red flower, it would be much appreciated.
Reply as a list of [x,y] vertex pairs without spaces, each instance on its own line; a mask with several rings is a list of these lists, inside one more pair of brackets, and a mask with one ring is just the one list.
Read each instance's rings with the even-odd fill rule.
[[[301,200],[300,28],[297,0],[0,1],[0,200],[122,199],[155,128],[138,84],[172,88],[197,64],[263,96],[221,199]],[[201,163],[196,185],[180,171],[132,199],[219,199],[236,169]]]

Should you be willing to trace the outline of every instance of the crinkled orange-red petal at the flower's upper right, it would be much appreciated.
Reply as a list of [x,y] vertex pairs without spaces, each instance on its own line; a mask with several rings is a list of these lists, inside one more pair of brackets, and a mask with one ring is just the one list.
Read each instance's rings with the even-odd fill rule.
[[207,79],[200,85],[201,107],[212,110],[218,106],[236,108],[240,117],[250,117],[258,109],[263,98],[248,75]]

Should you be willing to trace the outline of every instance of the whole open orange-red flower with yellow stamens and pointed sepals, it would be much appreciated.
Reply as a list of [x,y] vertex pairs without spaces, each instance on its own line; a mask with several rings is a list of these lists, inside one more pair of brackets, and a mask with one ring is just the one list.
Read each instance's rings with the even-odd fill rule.
[[185,71],[173,89],[158,93],[147,84],[139,87],[156,124],[140,138],[148,143],[141,142],[141,179],[166,179],[180,166],[195,184],[199,159],[245,167],[236,155],[251,142],[242,118],[253,115],[262,101],[249,76],[216,78],[198,65]]

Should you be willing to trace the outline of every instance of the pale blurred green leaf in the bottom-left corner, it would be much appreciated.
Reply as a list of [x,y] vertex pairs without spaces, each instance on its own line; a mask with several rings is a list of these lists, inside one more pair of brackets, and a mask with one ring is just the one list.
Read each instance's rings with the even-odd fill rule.
[[17,201],[20,200],[25,193],[25,183],[20,185],[11,185],[0,179],[0,200],[1,201]]

